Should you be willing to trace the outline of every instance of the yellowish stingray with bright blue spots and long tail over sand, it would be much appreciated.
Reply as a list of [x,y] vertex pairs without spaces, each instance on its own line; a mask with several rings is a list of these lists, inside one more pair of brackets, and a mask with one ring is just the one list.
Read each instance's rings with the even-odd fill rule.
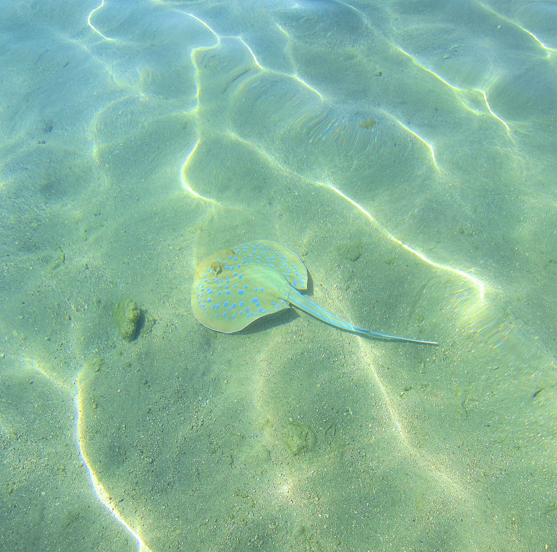
[[359,328],[311,302],[298,289],[307,289],[307,269],[300,258],[274,241],[250,241],[214,253],[199,264],[192,310],[203,326],[223,333],[238,332],[262,316],[297,307],[361,336],[437,344]]

